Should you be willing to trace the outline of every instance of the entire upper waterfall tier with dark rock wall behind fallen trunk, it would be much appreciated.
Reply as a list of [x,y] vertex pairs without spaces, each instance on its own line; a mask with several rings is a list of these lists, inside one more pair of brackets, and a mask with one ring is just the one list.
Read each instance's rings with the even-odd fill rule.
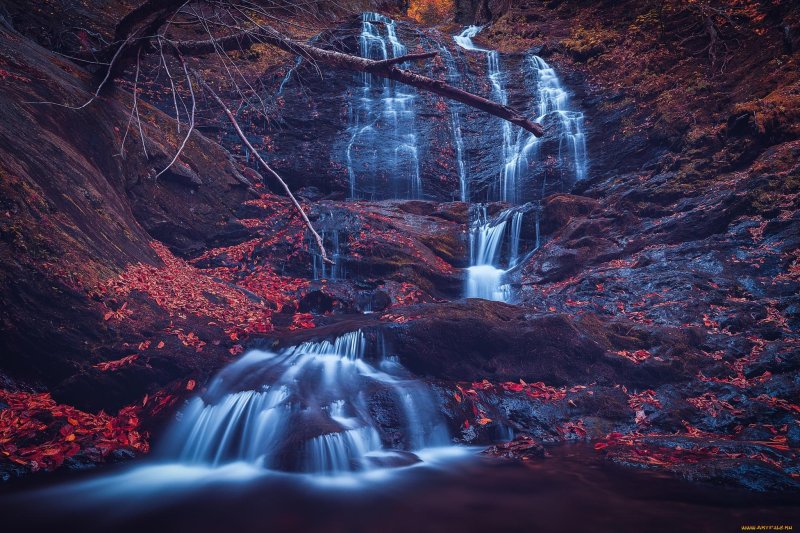
[[425,91],[301,61],[265,80],[280,89],[270,162],[294,189],[359,199],[522,204],[569,190],[588,172],[574,99],[542,58],[477,45],[479,31],[453,37],[364,13],[315,42],[379,60],[435,51],[436,58],[401,66],[525,111],[544,123],[543,138]]

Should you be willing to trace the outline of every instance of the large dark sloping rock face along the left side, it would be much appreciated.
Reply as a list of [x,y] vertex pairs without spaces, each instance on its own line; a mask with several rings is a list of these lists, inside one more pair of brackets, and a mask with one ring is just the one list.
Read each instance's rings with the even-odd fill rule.
[[[86,74],[0,31],[13,73],[4,78],[0,109],[0,353],[6,372],[52,386],[84,364],[87,346],[118,339],[87,298],[99,280],[129,263],[158,264],[153,237],[186,252],[229,238],[233,209],[248,192],[225,152],[201,136],[187,146],[188,163],[172,172],[191,175],[188,181],[170,173],[153,179],[174,147],[149,124],[149,158],[133,135],[119,157],[124,132],[115,126],[126,121],[125,93],[83,113],[30,103],[80,105],[91,96]],[[152,108],[143,113],[166,119]]]

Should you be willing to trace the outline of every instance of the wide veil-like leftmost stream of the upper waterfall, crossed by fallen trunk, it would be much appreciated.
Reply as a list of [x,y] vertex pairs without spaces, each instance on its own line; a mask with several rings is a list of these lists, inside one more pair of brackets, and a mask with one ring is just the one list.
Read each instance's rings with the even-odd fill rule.
[[[394,20],[363,13],[359,53],[369,59],[406,54]],[[350,140],[345,159],[352,198],[419,198],[422,196],[415,128],[416,93],[408,86],[369,73],[349,102]]]

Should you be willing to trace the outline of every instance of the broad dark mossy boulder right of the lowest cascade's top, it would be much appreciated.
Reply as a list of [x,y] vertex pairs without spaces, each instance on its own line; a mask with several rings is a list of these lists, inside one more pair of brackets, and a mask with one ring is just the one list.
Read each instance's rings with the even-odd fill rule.
[[500,302],[420,305],[393,310],[414,317],[388,325],[386,340],[416,374],[578,383],[606,374],[603,349],[567,316],[529,315]]

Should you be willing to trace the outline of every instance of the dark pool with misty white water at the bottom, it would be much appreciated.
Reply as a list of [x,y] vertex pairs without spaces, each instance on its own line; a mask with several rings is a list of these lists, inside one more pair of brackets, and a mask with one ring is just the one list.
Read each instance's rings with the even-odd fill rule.
[[[125,467],[0,495],[3,531],[724,532],[797,524],[791,496],[754,494],[604,464],[588,445],[508,463],[465,449],[346,480],[244,464]],[[19,488],[17,487],[17,490]]]

